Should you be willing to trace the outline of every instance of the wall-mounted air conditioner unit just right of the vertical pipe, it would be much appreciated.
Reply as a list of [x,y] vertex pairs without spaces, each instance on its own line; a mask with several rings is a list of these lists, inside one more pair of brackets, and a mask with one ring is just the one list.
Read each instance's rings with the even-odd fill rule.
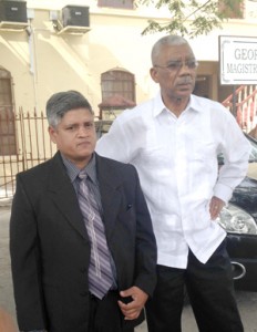
[[62,9],[62,30],[60,33],[85,33],[90,30],[89,7],[66,6]]

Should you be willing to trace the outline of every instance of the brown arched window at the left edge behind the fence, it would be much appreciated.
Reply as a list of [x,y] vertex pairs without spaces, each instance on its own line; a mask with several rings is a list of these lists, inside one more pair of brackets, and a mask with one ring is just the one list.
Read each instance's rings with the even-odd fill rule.
[[0,68],[0,156],[17,154],[11,75]]

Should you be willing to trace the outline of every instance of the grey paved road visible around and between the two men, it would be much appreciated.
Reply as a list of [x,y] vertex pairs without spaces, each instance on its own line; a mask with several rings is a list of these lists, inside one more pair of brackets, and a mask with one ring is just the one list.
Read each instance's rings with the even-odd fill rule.
[[[16,322],[9,257],[9,218],[10,208],[0,207],[0,307],[4,308]],[[237,292],[236,295],[245,332],[257,332],[257,292]],[[191,307],[186,305],[183,312],[183,332],[197,331]],[[147,332],[146,324],[140,325],[136,332]]]

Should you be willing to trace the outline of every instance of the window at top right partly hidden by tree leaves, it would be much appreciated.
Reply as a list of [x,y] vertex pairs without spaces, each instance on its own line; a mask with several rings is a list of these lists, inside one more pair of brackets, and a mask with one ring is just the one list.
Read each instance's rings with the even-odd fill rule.
[[227,4],[227,0],[218,1],[218,9],[222,14],[227,19],[244,19],[245,1],[234,0],[229,1],[230,6]]

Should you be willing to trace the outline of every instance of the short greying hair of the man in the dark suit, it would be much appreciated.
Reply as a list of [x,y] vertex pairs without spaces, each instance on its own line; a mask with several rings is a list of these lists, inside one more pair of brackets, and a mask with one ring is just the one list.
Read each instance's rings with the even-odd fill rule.
[[78,108],[94,112],[89,101],[78,91],[70,90],[54,93],[47,102],[47,117],[50,126],[56,127],[66,112]]

